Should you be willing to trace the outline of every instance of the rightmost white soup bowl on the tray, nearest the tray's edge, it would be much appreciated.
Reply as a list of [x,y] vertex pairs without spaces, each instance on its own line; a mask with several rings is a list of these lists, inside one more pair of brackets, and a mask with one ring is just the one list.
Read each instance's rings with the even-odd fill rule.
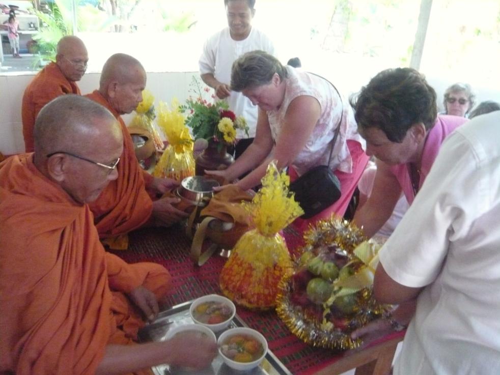
[[217,345],[224,363],[240,371],[257,367],[267,354],[266,338],[252,328],[228,329],[219,336]]

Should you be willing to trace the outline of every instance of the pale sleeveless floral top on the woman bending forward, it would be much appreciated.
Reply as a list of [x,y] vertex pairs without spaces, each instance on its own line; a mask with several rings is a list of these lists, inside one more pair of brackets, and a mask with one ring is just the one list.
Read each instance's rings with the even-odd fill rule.
[[285,114],[290,102],[298,96],[312,96],[321,106],[320,118],[309,137],[304,149],[292,162],[297,174],[303,175],[317,165],[328,164],[331,141],[334,138],[343,111],[340,132],[331,154],[330,167],[332,170],[352,172],[352,159],[347,148],[347,139],[352,139],[366,149],[365,140],[357,132],[356,121],[349,102],[339,97],[334,87],[324,78],[304,72],[302,70],[286,67],[288,78],[285,80],[285,98],[277,110],[267,111],[271,134],[276,141],[285,124]]

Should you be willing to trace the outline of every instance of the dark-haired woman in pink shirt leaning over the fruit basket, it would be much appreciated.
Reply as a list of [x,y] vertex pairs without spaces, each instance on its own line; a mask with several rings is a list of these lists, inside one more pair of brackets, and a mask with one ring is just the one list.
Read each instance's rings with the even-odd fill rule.
[[377,158],[372,194],[353,218],[372,237],[390,218],[401,192],[411,205],[441,143],[467,119],[437,116],[434,89],[411,68],[378,73],[351,105],[366,153]]

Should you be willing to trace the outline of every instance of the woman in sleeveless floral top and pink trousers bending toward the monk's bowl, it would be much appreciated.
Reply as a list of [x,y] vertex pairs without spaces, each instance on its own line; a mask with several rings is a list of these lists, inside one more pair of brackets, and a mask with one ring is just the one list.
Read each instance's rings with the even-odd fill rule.
[[253,51],[234,62],[231,90],[242,92],[259,106],[255,140],[228,169],[207,174],[233,181],[252,170],[236,182],[249,189],[259,184],[269,161],[275,159],[278,167],[290,167],[293,180],[315,166],[328,164],[340,126],[329,165],[340,180],[342,195],[300,227],[333,213],[343,216],[368,156],[352,109],[334,86],[315,74],[283,66],[266,52]]

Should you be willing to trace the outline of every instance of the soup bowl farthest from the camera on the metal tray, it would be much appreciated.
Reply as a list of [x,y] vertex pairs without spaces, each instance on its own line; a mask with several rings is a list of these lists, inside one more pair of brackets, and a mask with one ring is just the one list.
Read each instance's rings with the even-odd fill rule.
[[219,332],[227,328],[234,318],[236,306],[234,303],[218,294],[209,294],[197,298],[189,308],[193,322]]

